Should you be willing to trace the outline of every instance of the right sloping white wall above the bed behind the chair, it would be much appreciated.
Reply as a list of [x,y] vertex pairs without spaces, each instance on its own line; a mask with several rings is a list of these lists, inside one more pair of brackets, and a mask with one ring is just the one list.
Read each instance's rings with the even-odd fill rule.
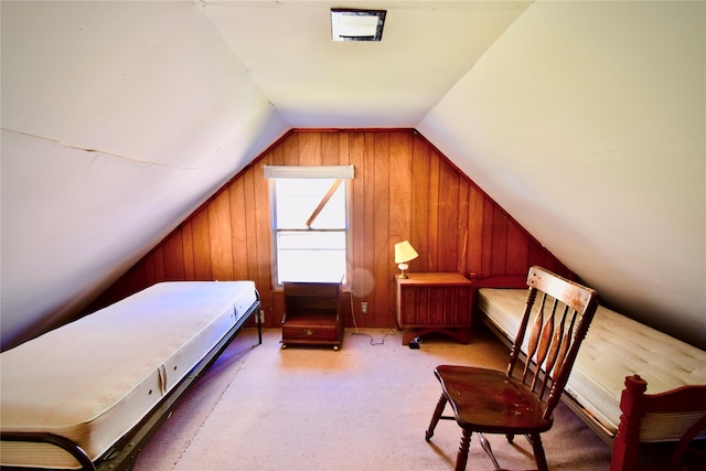
[[705,19],[536,2],[418,126],[607,304],[700,347]]

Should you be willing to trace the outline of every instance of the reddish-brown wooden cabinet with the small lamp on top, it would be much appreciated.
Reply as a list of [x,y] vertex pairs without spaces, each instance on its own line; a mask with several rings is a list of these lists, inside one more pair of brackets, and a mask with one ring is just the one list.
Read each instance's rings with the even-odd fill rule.
[[471,281],[460,274],[407,274],[397,278],[397,323],[403,344],[429,332],[468,343],[471,329]]

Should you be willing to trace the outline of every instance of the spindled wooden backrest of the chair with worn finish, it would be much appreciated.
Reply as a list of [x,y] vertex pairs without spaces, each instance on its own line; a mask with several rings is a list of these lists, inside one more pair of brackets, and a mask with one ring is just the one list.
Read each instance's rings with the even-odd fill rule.
[[541,267],[530,269],[527,285],[527,300],[510,355],[507,376],[513,375],[521,355],[526,355],[522,358],[525,363],[522,381],[546,404],[544,417],[548,419],[593,320],[598,298],[592,289]]

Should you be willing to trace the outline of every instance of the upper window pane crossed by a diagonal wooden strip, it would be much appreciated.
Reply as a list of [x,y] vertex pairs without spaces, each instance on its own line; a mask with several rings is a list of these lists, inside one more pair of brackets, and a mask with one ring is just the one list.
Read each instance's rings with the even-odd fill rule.
[[[278,179],[275,180],[276,221],[275,228],[307,228],[323,196],[329,192],[334,179]],[[321,213],[311,224],[312,228],[345,228],[345,184],[339,185]]]

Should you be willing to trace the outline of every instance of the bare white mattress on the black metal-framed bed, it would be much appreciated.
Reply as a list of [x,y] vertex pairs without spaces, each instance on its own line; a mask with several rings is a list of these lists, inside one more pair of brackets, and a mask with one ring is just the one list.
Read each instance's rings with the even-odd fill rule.
[[[96,460],[256,301],[253,281],[178,281],[0,354],[0,428],[64,436]],[[3,465],[78,468],[55,447],[3,442]]]

